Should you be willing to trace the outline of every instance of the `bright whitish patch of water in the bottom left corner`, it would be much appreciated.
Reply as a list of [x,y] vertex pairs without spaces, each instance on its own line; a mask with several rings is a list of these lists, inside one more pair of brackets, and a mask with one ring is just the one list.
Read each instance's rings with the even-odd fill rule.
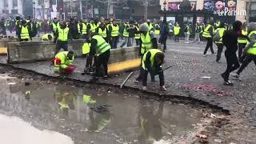
[[38,130],[21,118],[0,114],[0,142],[4,144],[74,144],[71,138],[50,130]]

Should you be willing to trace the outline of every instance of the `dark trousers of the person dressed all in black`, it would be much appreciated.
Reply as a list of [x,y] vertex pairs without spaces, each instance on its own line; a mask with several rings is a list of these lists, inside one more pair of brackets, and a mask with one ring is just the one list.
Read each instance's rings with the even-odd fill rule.
[[234,52],[225,51],[226,57],[226,71],[224,74],[224,81],[227,82],[230,78],[230,73],[239,68],[238,57]]

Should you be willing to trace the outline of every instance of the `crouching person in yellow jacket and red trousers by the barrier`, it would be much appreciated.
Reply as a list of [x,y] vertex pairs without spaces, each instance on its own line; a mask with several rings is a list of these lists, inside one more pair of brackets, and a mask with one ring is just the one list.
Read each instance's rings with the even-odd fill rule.
[[54,73],[57,76],[60,74],[72,74],[76,66],[72,65],[74,62],[73,51],[62,51],[55,55],[54,60]]

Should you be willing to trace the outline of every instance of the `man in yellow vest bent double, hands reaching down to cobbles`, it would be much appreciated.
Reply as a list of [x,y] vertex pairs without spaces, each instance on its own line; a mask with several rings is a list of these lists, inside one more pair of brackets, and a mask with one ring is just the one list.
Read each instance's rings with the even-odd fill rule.
[[162,70],[162,63],[164,62],[165,55],[161,50],[151,49],[143,55],[142,58],[142,90],[146,90],[147,74],[150,72],[151,77],[159,74],[160,89],[166,90],[164,74]]

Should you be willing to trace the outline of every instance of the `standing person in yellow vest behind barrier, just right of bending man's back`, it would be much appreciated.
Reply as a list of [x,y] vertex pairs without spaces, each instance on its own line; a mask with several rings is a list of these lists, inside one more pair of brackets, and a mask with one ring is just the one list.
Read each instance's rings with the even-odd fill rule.
[[116,49],[118,47],[118,39],[119,39],[119,26],[115,19],[113,19],[112,24],[109,26],[109,32],[110,32],[110,43],[111,43],[111,49]]

